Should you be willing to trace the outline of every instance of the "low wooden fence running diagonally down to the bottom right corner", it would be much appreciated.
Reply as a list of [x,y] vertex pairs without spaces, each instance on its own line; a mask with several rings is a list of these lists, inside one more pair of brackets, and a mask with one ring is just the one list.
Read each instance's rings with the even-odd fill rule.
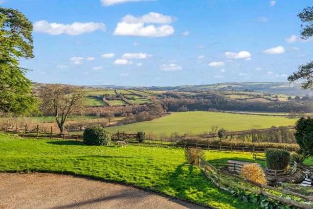
[[[295,200],[279,197],[277,195],[272,194],[273,192],[279,192],[282,195],[290,195],[294,197],[299,197],[302,199],[305,199],[307,201],[313,202],[312,196],[302,195],[298,194],[289,190],[280,189],[272,186],[267,186],[263,184],[259,184],[253,181],[249,181],[247,179],[244,179],[240,176],[233,175],[226,173],[216,167],[214,167],[212,164],[206,162],[203,158],[200,156],[198,157],[198,166],[200,167],[201,171],[204,173],[204,175],[218,188],[230,192],[231,190],[228,188],[229,186],[234,186],[239,189],[252,192],[254,194],[262,194],[265,196],[268,196],[269,198],[280,201],[282,203],[301,208],[301,209],[313,209],[309,204],[300,203]],[[256,188],[258,187],[258,188]]]

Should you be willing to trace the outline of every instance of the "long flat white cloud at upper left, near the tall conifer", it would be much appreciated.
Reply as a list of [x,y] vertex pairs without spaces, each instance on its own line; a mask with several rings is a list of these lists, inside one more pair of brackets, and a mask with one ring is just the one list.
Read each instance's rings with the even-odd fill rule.
[[90,33],[96,30],[106,30],[104,23],[79,23],[75,22],[72,24],[62,24],[62,23],[48,23],[47,21],[38,21],[34,23],[34,31],[38,33],[48,33],[50,35],[80,35],[83,33]]

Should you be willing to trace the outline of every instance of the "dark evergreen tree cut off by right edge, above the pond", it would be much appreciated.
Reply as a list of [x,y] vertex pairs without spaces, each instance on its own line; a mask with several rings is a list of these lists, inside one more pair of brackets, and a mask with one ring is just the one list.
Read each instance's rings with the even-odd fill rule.
[[300,146],[299,153],[305,157],[313,156],[313,118],[301,117],[295,124],[295,140]]

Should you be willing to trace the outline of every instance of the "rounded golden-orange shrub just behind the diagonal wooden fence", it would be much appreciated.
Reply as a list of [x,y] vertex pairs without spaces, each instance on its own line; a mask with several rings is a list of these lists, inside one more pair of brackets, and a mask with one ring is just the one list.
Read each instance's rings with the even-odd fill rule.
[[245,164],[241,169],[240,176],[256,183],[267,184],[263,169],[254,163]]

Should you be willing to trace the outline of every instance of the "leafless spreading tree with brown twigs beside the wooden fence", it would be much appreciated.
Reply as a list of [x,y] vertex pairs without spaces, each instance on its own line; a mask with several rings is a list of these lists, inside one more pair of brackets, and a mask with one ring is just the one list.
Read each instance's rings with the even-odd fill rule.
[[46,85],[39,93],[43,113],[55,116],[61,134],[67,116],[83,113],[84,96],[85,93],[79,87],[61,84]]

